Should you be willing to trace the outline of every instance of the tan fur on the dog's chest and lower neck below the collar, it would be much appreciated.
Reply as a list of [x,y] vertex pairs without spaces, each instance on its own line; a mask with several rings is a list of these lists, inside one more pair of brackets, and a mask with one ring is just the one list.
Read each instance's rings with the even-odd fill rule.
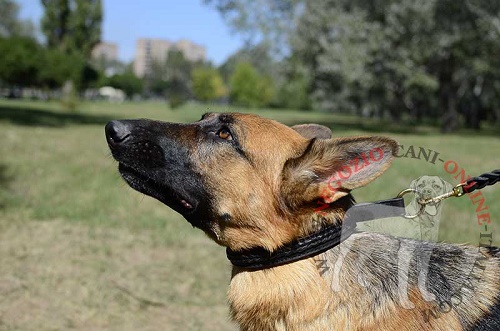
[[[265,289],[265,290],[264,290]],[[363,289],[355,282],[332,295],[327,282],[310,260],[271,270],[233,270],[229,301],[233,318],[242,330],[461,330],[456,313],[425,322],[422,315],[430,304],[417,290],[411,292],[415,309],[397,305],[366,311]],[[374,314],[372,318],[366,314]]]

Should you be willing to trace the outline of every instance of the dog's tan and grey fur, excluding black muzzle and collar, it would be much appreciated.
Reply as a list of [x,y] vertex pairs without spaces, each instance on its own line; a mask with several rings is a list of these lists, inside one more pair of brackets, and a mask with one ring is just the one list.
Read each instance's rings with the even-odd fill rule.
[[[206,121],[217,123],[219,116],[228,116],[222,122],[229,123],[239,152],[231,144],[200,140],[197,129]],[[211,221],[205,232],[234,251],[262,247],[272,252],[340,222],[351,203],[350,191],[380,176],[397,152],[397,143],[389,138],[326,139],[325,127],[294,129],[250,114],[208,114],[191,125],[166,125],[165,135],[189,149],[189,161],[210,192]],[[371,161],[358,167],[372,152]],[[335,176],[343,177],[332,188]],[[326,206],[321,214],[318,205]],[[417,287],[418,259],[410,253],[399,256],[405,252],[401,248],[434,254],[434,278],[429,279],[442,275],[450,289],[427,285],[442,297],[460,293],[460,303],[426,320],[436,302],[423,299]],[[500,259],[488,254],[466,246],[355,234],[313,258],[254,271],[233,267],[231,314],[246,331],[462,330],[486,316],[498,299]],[[324,273],[318,259],[328,266]],[[411,309],[398,297],[401,261],[410,266]]]

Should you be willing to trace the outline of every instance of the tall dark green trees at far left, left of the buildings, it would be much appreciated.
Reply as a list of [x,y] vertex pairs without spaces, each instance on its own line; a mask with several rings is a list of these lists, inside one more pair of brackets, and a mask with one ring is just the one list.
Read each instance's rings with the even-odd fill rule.
[[0,80],[11,87],[54,89],[71,82],[77,89],[92,86],[99,73],[90,65],[90,52],[100,39],[100,0],[43,0],[42,45],[33,24],[19,20],[19,6],[0,0]]

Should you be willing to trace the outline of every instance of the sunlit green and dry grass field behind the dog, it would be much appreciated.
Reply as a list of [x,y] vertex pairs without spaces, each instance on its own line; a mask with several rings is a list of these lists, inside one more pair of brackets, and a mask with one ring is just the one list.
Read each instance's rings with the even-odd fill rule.
[[[110,119],[189,122],[207,111],[228,110],[234,109],[92,103],[67,113],[57,103],[0,100],[0,330],[235,330],[225,299],[230,265],[224,249],[128,188],[103,132]],[[355,192],[358,201],[393,197],[426,174],[457,182],[443,162],[411,158],[409,146],[438,152],[470,175],[500,167],[494,129],[441,136],[432,127],[256,111],[290,125],[325,124],[337,136],[398,140],[407,157]],[[498,245],[500,185],[483,194],[491,215],[487,231]],[[475,207],[467,196],[447,200],[440,240],[477,245],[485,230]]]

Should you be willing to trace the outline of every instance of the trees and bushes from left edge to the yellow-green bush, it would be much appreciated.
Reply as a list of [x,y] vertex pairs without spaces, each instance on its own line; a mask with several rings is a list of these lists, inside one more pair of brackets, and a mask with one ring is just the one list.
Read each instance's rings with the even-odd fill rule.
[[310,108],[306,80],[301,79],[305,76],[295,71],[288,78],[280,76],[280,63],[263,45],[243,48],[218,68],[190,62],[181,51],[172,50],[139,79],[131,65],[91,57],[101,38],[101,0],[41,3],[44,44],[35,38],[33,24],[19,19],[16,2],[0,0],[0,87],[11,87],[14,96],[18,87],[50,92],[64,86],[62,90],[76,98],[87,89],[112,86],[128,97],[167,98],[172,107],[196,99],[243,107]]

